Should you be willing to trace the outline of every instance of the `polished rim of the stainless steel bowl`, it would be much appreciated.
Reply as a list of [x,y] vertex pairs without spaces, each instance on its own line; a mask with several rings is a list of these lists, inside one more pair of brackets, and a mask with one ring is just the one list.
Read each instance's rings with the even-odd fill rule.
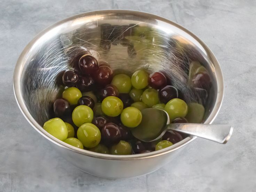
[[145,158],[152,158],[152,157],[156,157],[156,156],[160,156],[163,154],[167,154],[170,153],[172,151],[175,151],[187,144],[189,144],[190,142],[192,142],[194,139],[196,139],[196,136],[191,136],[191,137],[187,137],[185,139],[183,139],[182,141],[167,147],[166,149],[163,150],[159,150],[159,151],[153,151],[150,153],[144,153],[144,154],[132,154],[132,155],[110,155],[110,154],[101,154],[101,153],[96,153],[96,152],[91,152],[91,151],[87,151],[87,150],[82,150],[79,149],[77,147],[71,146],[69,144],[66,144],[65,142],[55,138],[54,136],[50,135],[47,131],[45,131],[32,117],[32,115],[29,113],[23,98],[22,98],[22,93],[21,93],[21,75],[22,75],[22,69],[24,67],[24,59],[26,54],[29,52],[29,50],[32,48],[32,46],[34,45],[34,43],[45,33],[47,33],[48,31],[54,29],[57,26],[62,25],[63,23],[66,23],[68,21],[72,21],[74,19],[77,18],[81,18],[81,17],[86,17],[89,15],[97,15],[97,14],[104,14],[104,13],[112,13],[112,14],[137,14],[137,15],[141,15],[143,17],[151,17],[157,20],[160,20],[162,22],[166,22],[170,25],[173,25],[181,30],[183,30],[184,32],[186,32],[187,34],[189,34],[191,37],[193,37],[196,41],[198,41],[200,43],[200,45],[207,51],[207,53],[209,54],[210,58],[213,59],[214,62],[214,70],[215,70],[215,75],[216,75],[216,80],[217,80],[217,98],[216,98],[216,102],[215,105],[213,107],[212,112],[210,113],[209,117],[206,119],[205,123],[212,123],[214,121],[214,119],[216,118],[221,105],[222,105],[222,101],[223,101],[223,96],[224,96],[224,81],[223,81],[223,75],[222,75],[222,71],[221,71],[221,67],[219,66],[219,63],[215,57],[215,55],[213,54],[213,52],[209,49],[209,47],[203,42],[201,41],[195,34],[193,34],[191,31],[185,29],[183,26],[170,21],[169,19],[154,15],[154,14],[150,14],[150,13],[146,13],[146,12],[142,12],[142,11],[134,11],[134,10],[125,10],[125,9],[106,9],[106,10],[96,10],[96,11],[90,11],[90,12],[86,12],[86,13],[81,13],[81,14],[77,14],[77,15],[73,15],[71,17],[65,18],[53,25],[50,25],[49,27],[47,27],[45,30],[41,31],[39,34],[37,34],[27,45],[26,47],[23,49],[21,55],[19,56],[16,66],[15,66],[15,70],[14,70],[14,75],[13,75],[13,88],[14,88],[14,95],[15,95],[15,99],[16,102],[19,106],[19,109],[21,110],[22,114],[24,115],[24,117],[26,118],[26,120],[30,123],[30,125],[37,130],[42,136],[44,136],[45,138],[47,138],[49,141],[53,142],[54,144],[63,147],[65,149],[71,150],[75,153],[79,153],[82,155],[86,155],[89,157],[94,157],[94,158],[99,158],[99,159],[107,159],[107,160],[136,160],[136,159],[145,159]]

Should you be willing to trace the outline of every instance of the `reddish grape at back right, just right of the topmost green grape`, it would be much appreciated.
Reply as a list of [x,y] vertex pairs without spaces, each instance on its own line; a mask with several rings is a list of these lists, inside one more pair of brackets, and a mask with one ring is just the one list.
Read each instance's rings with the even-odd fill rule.
[[167,79],[161,72],[155,72],[149,75],[149,86],[154,89],[160,89],[167,85]]

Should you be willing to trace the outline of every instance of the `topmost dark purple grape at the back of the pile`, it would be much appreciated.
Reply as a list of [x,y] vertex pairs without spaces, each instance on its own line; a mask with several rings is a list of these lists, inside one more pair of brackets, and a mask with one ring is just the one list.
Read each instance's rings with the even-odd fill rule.
[[92,55],[83,55],[79,59],[79,68],[83,74],[93,74],[99,69],[98,61]]

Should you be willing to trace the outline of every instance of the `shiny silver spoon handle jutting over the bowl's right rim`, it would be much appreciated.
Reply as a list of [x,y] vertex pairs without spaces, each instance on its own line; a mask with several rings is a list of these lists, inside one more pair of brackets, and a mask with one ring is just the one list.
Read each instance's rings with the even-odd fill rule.
[[230,125],[196,123],[171,123],[166,126],[166,129],[187,133],[222,144],[229,140],[233,132],[233,127]]

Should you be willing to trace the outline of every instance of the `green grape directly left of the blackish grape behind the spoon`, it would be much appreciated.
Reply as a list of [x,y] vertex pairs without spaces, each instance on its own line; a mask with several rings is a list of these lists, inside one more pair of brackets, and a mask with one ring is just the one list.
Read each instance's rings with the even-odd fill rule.
[[160,102],[158,91],[153,88],[146,89],[142,94],[141,100],[149,107],[158,104]]

